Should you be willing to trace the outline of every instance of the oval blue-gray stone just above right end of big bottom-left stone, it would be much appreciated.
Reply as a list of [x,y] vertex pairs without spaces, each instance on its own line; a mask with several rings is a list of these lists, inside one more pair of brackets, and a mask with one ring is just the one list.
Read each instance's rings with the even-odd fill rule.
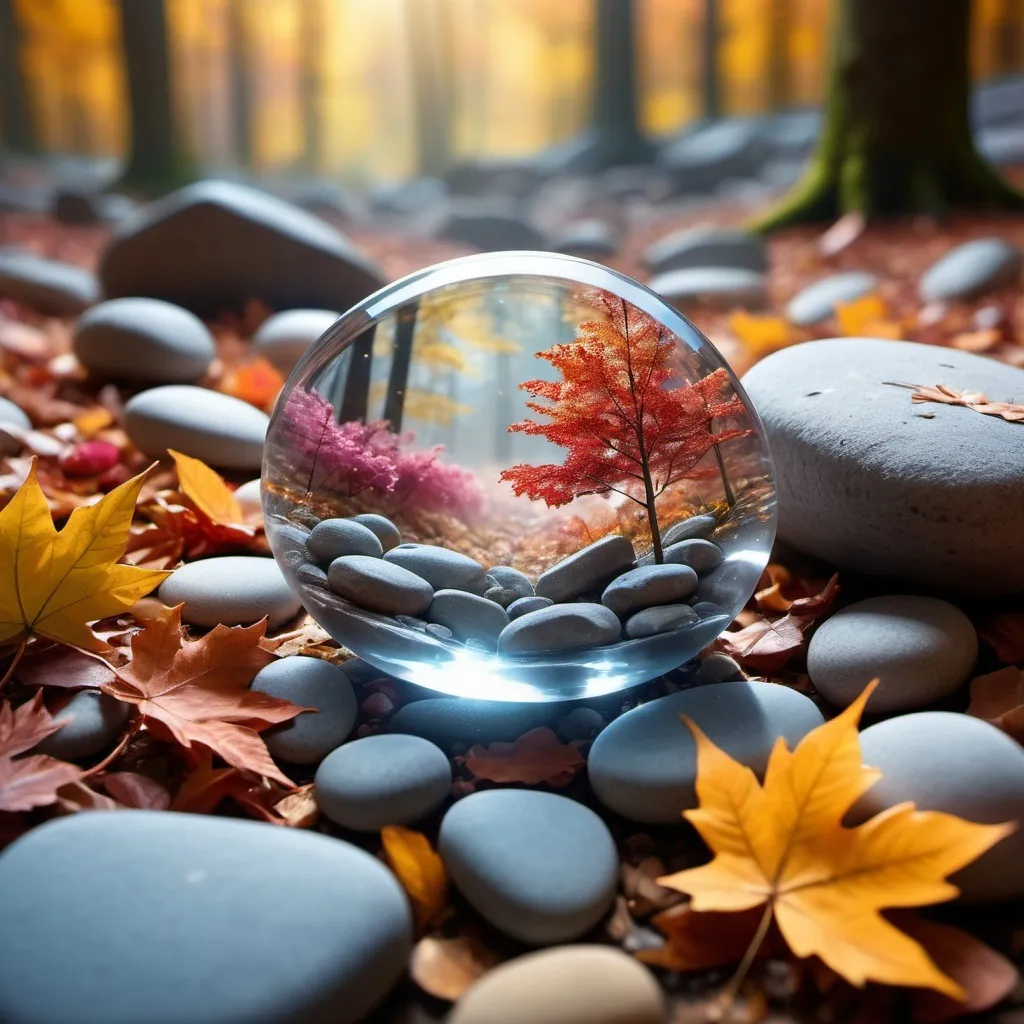
[[411,825],[447,799],[452,765],[419,736],[367,736],[325,758],[313,779],[316,806],[355,831]]

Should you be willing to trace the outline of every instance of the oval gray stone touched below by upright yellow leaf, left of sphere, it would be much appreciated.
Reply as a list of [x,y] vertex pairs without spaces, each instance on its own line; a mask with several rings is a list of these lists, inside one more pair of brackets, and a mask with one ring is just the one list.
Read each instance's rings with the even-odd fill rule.
[[175,449],[221,469],[259,469],[269,423],[247,401],[190,384],[165,384],[129,398],[125,430],[155,459]]

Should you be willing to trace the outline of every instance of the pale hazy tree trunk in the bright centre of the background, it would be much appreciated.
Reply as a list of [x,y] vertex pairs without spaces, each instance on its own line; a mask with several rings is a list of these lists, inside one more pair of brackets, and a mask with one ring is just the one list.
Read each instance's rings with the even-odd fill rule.
[[413,71],[418,170],[427,177],[452,165],[452,40],[444,0],[406,5]]

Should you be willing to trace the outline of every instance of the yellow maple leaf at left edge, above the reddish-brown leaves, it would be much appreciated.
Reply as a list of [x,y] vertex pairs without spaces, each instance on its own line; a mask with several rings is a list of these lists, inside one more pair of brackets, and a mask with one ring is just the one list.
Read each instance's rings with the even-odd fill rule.
[[57,532],[33,460],[0,512],[0,643],[39,636],[109,650],[85,624],[130,608],[170,575],[117,564],[144,479],[141,473],[75,509]]

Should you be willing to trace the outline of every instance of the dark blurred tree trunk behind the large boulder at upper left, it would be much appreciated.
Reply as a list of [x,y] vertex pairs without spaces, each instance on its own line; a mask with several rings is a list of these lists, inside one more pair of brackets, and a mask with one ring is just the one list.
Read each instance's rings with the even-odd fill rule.
[[120,184],[165,191],[183,184],[190,163],[174,124],[170,39],[164,0],[121,0],[131,143]]

